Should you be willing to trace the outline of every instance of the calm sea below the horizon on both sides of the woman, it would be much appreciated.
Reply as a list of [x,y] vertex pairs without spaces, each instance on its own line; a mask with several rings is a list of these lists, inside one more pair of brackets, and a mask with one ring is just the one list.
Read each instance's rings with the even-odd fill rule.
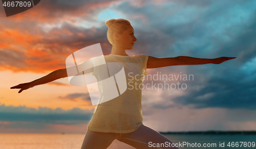
[[[179,148],[256,148],[256,135],[164,135],[172,142],[180,144]],[[0,134],[0,149],[80,149],[84,134]],[[190,147],[184,142],[190,143]],[[230,142],[230,147],[227,146]],[[234,142],[232,147],[231,143]],[[238,147],[236,147],[236,142]],[[246,142],[246,147],[245,143]],[[250,147],[248,146],[250,143]],[[154,143],[154,142],[153,142]],[[157,143],[157,142],[155,142]],[[184,143],[184,145],[183,145]],[[197,143],[197,147],[196,147]],[[201,147],[198,147],[198,143]],[[203,147],[203,144],[208,147]],[[216,146],[212,146],[216,143]],[[220,143],[224,143],[220,147]],[[194,147],[192,147],[194,144]],[[241,147],[242,145],[242,147]],[[132,149],[134,147],[114,140],[108,149]],[[154,148],[154,147],[151,147]]]

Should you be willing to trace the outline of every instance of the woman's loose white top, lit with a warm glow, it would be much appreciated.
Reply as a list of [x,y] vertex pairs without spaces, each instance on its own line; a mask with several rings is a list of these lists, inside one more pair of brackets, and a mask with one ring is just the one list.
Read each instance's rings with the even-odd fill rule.
[[[118,62],[123,65],[127,89],[118,97],[98,104],[87,129],[104,133],[134,132],[142,125],[143,121],[141,88],[144,76],[147,74],[146,64],[148,56],[120,56],[110,54],[103,57],[107,64],[108,62]],[[97,61],[92,62],[94,66],[97,65]],[[94,67],[92,74],[98,79],[100,68]],[[103,92],[104,88],[108,88],[108,86],[102,86],[101,84],[98,84],[98,87],[100,93]]]

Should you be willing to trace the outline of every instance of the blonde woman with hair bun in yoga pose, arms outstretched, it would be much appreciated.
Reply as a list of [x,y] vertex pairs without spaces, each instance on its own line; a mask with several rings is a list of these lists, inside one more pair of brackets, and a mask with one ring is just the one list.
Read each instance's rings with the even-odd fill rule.
[[[122,63],[127,77],[127,72],[146,75],[146,68],[158,68],[174,65],[200,65],[220,64],[235,57],[220,57],[216,59],[200,59],[193,57],[155,58],[146,55],[129,56],[125,49],[133,49],[137,39],[131,23],[125,19],[110,19],[106,21],[109,28],[107,37],[113,45],[110,55],[104,56],[106,62]],[[95,65],[95,61],[93,64]],[[92,65],[88,61],[86,64]],[[68,68],[67,68],[68,69]],[[45,84],[60,78],[68,77],[67,69],[59,69],[51,72],[45,77],[30,83],[19,84],[11,87],[20,88],[18,93],[33,86]],[[89,72],[89,71],[88,71]],[[93,75],[98,79],[100,68],[94,67]],[[142,78],[137,83],[143,82]],[[133,84],[134,85],[134,84]],[[101,87],[101,88],[100,88]],[[120,87],[120,86],[119,86]],[[101,93],[104,86],[99,85]],[[108,87],[106,87],[107,89]],[[159,132],[148,128],[142,123],[141,89],[126,89],[124,93],[108,102],[97,104],[93,117],[89,122],[86,136],[84,137],[82,149],[103,149],[117,139],[135,148],[179,148],[168,138]],[[155,145],[154,145],[155,143]],[[157,143],[161,146],[157,146]],[[154,147],[155,146],[155,147]]]

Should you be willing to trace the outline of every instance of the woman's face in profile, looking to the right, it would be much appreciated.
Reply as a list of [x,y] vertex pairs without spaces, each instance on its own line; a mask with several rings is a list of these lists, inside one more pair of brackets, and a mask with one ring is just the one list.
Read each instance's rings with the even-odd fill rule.
[[134,36],[134,29],[132,26],[118,36],[120,36],[119,40],[117,41],[119,46],[123,47],[124,49],[133,49],[134,42],[137,41],[137,39]]

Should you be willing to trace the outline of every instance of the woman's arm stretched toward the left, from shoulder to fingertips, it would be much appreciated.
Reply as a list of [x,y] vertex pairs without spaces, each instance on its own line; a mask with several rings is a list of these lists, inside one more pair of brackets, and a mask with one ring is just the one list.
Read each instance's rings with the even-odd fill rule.
[[39,79],[34,80],[29,83],[23,83],[23,84],[13,86],[13,87],[11,87],[11,89],[20,88],[20,90],[18,91],[18,93],[20,93],[23,90],[29,89],[36,85],[46,84],[46,83],[52,82],[54,80],[57,80],[60,78],[65,78],[68,76],[75,76],[76,74],[78,74],[77,70],[80,72],[83,71],[84,74],[93,72],[93,63],[91,62],[91,60],[88,60],[78,66],[68,67],[68,68],[64,68],[64,69],[58,69],[58,70],[55,70],[55,71],[47,74],[45,77],[39,78]]

